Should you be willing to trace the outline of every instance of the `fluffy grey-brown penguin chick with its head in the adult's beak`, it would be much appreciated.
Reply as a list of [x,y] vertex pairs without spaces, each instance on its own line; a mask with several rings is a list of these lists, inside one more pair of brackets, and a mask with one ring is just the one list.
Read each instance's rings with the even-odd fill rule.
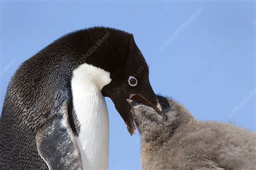
[[255,169],[256,134],[237,126],[198,121],[176,101],[158,96],[167,121],[129,100],[141,137],[143,169]]

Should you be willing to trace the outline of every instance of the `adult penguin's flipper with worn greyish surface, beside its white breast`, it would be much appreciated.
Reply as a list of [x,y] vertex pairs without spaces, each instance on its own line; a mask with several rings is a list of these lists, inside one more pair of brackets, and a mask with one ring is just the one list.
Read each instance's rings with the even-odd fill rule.
[[83,169],[75,135],[69,124],[68,101],[55,106],[37,131],[36,143],[49,169]]

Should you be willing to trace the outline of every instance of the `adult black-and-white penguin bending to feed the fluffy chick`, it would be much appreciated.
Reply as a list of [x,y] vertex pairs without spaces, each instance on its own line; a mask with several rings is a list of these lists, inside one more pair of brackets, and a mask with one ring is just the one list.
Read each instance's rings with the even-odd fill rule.
[[26,60],[11,79],[1,120],[1,169],[107,169],[110,97],[130,134],[126,99],[161,107],[130,33],[69,33]]

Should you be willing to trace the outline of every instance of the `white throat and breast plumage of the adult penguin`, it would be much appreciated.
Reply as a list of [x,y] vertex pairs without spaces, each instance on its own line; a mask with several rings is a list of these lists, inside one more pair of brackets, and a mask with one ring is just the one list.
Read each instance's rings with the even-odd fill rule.
[[84,169],[107,169],[109,164],[109,114],[102,88],[110,73],[83,64],[73,71],[73,106],[80,123],[77,144]]

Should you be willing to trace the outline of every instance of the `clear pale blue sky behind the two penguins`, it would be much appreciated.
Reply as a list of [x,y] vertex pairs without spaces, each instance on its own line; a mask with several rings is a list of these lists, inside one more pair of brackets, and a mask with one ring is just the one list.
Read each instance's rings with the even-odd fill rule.
[[[0,107],[19,64],[65,33],[100,25],[133,33],[156,93],[198,120],[255,132],[255,19],[254,1],[1,1]],[[139,135],[106,101],[110,169],[139,169]]]

